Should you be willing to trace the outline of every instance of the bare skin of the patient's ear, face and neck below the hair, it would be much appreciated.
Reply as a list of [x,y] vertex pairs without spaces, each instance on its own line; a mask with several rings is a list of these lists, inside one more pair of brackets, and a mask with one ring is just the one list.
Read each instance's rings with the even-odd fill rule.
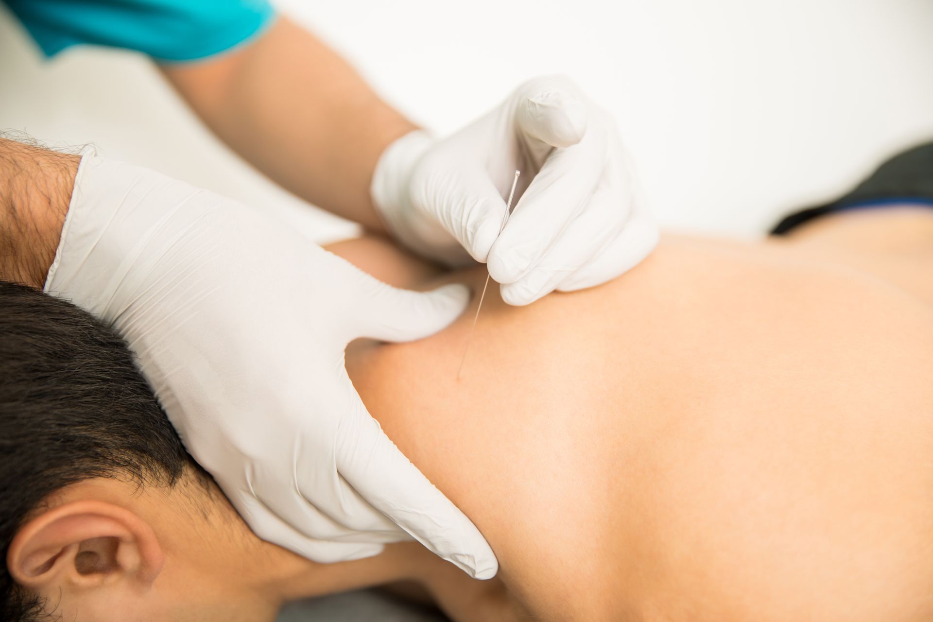
[[7,568],[74,622],[272,622],[285,601],[399,581],[455,620],[515,619],[502,616],[500,581],[470,579],[417,543],[320,564],[263,542],[191,474],[174,488],[94,478],[58,491],[17,533]]

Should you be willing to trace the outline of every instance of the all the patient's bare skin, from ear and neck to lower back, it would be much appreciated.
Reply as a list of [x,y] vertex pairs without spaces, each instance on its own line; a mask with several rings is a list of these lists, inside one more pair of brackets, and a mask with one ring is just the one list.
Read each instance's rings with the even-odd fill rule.
[[[471,313],[430,339],[353,344],[358,391],[494,547],[493,581],[413,544],[314,564],[259,541],[216,489],[116,480],[61,491],[7,565],[77,620],[272,619],[287,599],[398,580],[455,620],[929,619],[925,230],[933,211],[905,208],[759,244],[667,236],[591,290],[512,308],[492,289],[459,381]],[[331,250],[399,285],[485,277],[379,239]],[[55,512],[86,527],[87,502],[122,525],[124,554],[78,530],[55,572],[17,570],[61,542],[43,528]],[[81,550],[114,561],[91,580]]]

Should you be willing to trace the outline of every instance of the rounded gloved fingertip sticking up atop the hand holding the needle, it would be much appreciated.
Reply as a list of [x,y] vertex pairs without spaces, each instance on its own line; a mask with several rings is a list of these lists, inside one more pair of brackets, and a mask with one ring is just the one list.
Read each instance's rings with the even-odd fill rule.
[[[536,139],[546,147],[576,145],[587,128],[587,106],[583,94],[570,78],[565,76],[536,77],[525,82],[516,93],[515,123],[528,138]],[[533,141],[529,141],[535,146]],[[544,153],[532,153],[540,166]]]

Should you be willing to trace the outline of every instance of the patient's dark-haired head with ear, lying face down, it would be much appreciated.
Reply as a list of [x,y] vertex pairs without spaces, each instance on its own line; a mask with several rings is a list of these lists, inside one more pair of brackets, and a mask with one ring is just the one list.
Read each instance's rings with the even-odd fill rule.
[[192,462],[117,336],[3,282],[0,491],[4,620],[261,619],[256,584],[300,566]]

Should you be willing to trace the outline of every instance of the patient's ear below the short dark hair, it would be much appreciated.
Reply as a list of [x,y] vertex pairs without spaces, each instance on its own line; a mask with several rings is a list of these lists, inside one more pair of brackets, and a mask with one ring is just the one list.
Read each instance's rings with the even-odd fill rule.
[[147,587],[161,567],[162,551],[148,523],[100,501],[61,505],[29,520],[7,552],[13,579],[40,593],[118,581]]

